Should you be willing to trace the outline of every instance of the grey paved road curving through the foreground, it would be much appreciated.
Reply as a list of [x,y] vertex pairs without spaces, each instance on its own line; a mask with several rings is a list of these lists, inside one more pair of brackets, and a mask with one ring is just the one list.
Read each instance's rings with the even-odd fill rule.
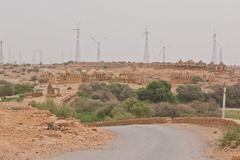
[[118,134],[104,149],[66,153],[54,160],[209,160],[198,136],[167,125],[106,127]]

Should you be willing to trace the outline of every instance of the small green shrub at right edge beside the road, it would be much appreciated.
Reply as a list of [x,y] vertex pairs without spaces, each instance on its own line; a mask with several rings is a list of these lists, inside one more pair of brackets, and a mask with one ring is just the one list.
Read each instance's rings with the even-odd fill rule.
[[228,130],[219,140],[221,147],[237,148],[240,146],[240,128]]

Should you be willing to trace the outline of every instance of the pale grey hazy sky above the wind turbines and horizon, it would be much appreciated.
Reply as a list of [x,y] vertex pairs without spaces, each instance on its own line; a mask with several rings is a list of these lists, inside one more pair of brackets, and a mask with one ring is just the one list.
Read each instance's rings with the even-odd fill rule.
[[81,59],[96,60],[102,41],[102,60],[142,61],[146,26],[150,31],[151,61],[156,61],[162,40],[167,61],[209,62],[214,29],[226,63],[240,64],[240,0],[0,0],[0,39],[4,59],[8,48],[24,61],[43,51],[45,62],[74,57],[81,20]]

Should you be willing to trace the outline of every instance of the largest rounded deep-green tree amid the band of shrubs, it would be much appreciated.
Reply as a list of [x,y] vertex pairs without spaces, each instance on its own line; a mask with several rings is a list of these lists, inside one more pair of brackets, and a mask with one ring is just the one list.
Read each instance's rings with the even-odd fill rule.
[[151,82],[146,88],[139,89],[136,94],[141,101],[177,102],[176,97],[171,92],[171,85],[165,81]]

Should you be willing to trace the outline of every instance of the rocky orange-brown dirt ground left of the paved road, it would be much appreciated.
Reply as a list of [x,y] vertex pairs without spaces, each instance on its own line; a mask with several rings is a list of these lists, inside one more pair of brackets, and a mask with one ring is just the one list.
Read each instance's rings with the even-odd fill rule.
[[[61,152],[101,147],[109,132],[57,120],[48,111],[5,104],[0,107],[0,159],[31,160]],[[54,124],[54,125],[52,125]]]

